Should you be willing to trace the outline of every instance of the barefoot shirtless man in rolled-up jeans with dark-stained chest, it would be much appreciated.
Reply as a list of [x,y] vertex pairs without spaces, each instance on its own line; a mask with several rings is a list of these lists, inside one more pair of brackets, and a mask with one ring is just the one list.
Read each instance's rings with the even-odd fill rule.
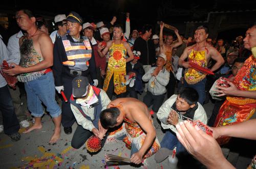
[[50,143],[55,143],[60,137],[61,109],[55,101],[54,78],[51,70],[53,65],[53,45],[46,33],[37,29],[35,17],[29,10],[16,12],[16,21],[27,36],[19,39],[20,63],[11,64],[12,69],[6,70],[10,75],[17,75],[19,81],[25,83],[28,109],[35,117],[35,123],[24,133],[42,128],[41,117],[44,115],[41,102],[47,106],[52,116],[55,129]]

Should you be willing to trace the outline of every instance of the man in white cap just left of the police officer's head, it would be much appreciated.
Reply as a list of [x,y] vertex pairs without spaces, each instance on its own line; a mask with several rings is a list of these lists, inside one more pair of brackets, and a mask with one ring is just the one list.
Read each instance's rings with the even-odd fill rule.
[[56,38],[67,34],[67,21],[65,21],[66,18],[67,17],[65,14],[56,15],[54,17],[56,31],[53,31],[50,35],[53,44]]

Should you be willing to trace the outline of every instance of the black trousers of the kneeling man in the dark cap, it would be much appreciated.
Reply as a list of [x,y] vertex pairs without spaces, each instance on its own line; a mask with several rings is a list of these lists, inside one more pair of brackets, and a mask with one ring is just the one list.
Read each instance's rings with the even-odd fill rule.
[[[76,131],[73,135],[71,146],[75,149],[79,149],[82,147],[86,140],[93,135],[93,132],[84,129],[81,125],[78,125]],[[109,132],[106,132],[106,136],[101,140],[101,148],[104,146],[106,142],[106,137],[109,135]]]

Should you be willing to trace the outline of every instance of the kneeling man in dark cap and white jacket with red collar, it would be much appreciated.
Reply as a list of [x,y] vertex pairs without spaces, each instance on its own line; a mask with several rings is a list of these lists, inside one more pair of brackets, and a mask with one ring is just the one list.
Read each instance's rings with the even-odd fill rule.
[[[70,105],[78,126],[73,135],[71,146],[79,149],[93,134],[101,139],[103,147],[106,130],[99,122],[100,112],[110,103],[108,95],[102,89],[91,86],[88,78],[77,76],[72,81],[73,95]],[[102,139],[103,138],[103,139]]]

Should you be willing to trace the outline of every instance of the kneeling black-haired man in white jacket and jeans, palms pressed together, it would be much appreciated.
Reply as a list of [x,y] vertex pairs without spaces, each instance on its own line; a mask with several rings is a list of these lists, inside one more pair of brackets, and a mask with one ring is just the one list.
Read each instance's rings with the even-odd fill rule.
[[[172,155],[175,147],[177,154],[185,152],[176,136],[176,125],[183,120],[200,120],[207,124],[207,116],[203,106],[198,102],[199,95],[193,88],[181,88],[178,95],[166,100],[157,112],[163,129],[167,129],[161,142],[161,149],[155,155],[157,162],[163,161],[168,155]],[[170,129],[170,130],[169,130]]]

